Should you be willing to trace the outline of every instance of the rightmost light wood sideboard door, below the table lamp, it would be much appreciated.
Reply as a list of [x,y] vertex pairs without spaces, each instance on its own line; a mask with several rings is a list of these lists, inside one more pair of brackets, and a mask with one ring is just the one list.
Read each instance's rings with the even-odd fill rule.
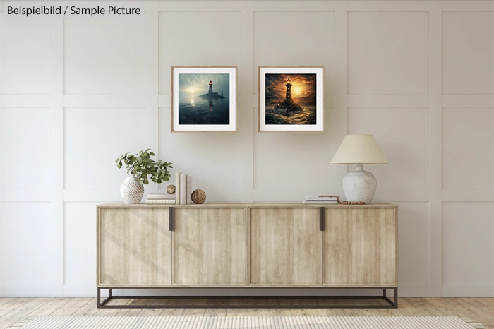
[[326,208],[325,285],[397,285],[396,208]]

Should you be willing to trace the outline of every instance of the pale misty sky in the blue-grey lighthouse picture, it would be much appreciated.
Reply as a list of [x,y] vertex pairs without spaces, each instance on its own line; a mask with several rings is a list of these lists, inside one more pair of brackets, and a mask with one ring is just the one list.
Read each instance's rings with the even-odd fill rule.
[[223,92],[225,98],[230,95],[229,73],[179,74],[179,102],[191,102],[196,97],[207,94],[210,80],[212,91],[219,95]]

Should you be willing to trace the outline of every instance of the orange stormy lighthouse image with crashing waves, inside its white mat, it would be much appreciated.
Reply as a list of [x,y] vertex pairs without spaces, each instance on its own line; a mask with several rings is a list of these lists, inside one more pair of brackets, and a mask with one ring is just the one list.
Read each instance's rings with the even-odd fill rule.
[[315,77],[266,73],[265,124],[316,124]]

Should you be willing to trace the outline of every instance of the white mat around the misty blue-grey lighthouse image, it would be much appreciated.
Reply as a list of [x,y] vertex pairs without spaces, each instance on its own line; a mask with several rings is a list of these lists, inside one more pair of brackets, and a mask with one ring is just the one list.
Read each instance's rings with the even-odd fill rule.
[[[230,75],[230,124],[179,124],[179,74],[218,74]],[[174,67],[173,68],[173,122],[171,131],[236,131],[236,67]]]

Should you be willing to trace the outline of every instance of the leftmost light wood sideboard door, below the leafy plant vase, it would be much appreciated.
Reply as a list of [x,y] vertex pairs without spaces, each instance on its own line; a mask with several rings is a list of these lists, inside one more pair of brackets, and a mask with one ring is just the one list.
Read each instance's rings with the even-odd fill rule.
[[100,208],[98,285],[170,285],[168,208]]

